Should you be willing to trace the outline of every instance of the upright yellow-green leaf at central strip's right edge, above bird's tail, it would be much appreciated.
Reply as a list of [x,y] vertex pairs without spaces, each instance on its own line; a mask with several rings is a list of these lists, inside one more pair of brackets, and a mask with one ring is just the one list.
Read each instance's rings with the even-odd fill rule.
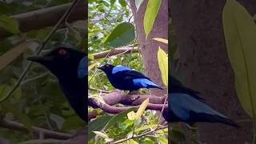
[[158,65],[162,74],[162,82],[168,87],[168,55],[158,47]]

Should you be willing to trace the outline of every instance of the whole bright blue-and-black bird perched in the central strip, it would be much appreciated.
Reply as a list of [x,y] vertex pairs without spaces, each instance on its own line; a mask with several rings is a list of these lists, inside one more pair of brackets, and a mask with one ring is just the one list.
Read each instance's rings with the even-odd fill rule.
[[113,66],[106,64],[98,67],[98,69],[103,70],[112,86],[119,90],[133,91],[140,88],[162,89],[160,86],[152,82],[150,78],[147,78],[138,71],[131,70],[130,67],[127,66]]

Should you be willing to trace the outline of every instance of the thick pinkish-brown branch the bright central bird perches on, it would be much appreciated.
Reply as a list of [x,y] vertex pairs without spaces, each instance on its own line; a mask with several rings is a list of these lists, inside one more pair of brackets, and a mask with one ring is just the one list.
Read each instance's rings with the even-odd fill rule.
[[[129,110],[132,107],[138,107],[144,102],[146,98],[150,99],[146,110],[162,110],[165,97],[158,97],[154,95],[141,95],[141,94],[126,94],[122,90],[114,90],[110,94],[102,94],[105,103],[99,102],[96,98],[89,98],[89,106],[93,108],[100,108],[106,113],[118,114],[122,111]],[[116,107],[117,103],[126,105],[126,107]],[[165,109],[168,105],[165,105]]]

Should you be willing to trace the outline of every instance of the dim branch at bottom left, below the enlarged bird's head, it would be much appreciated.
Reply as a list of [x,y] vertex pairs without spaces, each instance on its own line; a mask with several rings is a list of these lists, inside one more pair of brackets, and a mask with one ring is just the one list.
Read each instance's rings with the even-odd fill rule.
[[[8,128],[12,130],[19,130],[19,131],[29,131],[26,126],[19,122],[13,122],[10,120],[2,119],[0,120],[0,127]],[[36,126],[32,126],[31,130],[36,134],[43,134],[45,138],[56,138],[56,139],[69,139],[72,138],[72,134],[66,134],[61,132],[56,132],[52,130],[46,130],[43,128],[39,128]]]

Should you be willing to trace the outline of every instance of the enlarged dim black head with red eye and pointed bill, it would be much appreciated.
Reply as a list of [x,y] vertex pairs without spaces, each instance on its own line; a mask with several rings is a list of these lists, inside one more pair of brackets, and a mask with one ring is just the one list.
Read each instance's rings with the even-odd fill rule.
[[81,51],[58,47],[42,56],[31,56],[27,58],[32,62],[38,62],[46,66],[55,76],[65,76],[64,74],[77,74],[78,64],[85,57]]

